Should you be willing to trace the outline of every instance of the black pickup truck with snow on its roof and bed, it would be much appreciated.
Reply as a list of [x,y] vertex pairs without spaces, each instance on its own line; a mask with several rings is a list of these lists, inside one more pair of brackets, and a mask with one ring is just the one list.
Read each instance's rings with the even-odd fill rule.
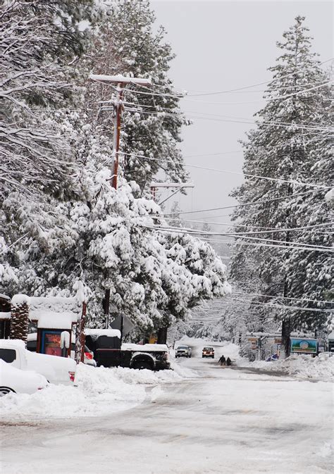
[[120,344],[117,332],[119,331],[87,330],[85,344],[94,352],[97,366],[149,370],[171,368],[166,344]]

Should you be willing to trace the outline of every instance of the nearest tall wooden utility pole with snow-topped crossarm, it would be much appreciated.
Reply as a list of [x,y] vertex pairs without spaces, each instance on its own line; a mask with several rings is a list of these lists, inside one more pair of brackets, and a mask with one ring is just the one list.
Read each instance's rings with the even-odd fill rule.
[[[116,85],[116,101],[106,101],[104,104],[111,104],[114,108],[113,116],[113,163],[112,163],[112,175],[111,175],[111,186],[117,189],[117,178],[118,178],[118,163],[119,163],[119,148],[120,148],[120,123],[122,118],[123,110],[123,95],[124,86],[135,84],[142,86],[151,85],[149,79],[141,79],[139,77],[125,77],[123,75],[104,75],[104,74],[91,74],[89,79],[95,82],[102,82],[104,84],[115,84]],[[104,315],[106,317],[106,329],[109,328],[109,304],[110,304],[110,289],[106,289],[104,294]]]

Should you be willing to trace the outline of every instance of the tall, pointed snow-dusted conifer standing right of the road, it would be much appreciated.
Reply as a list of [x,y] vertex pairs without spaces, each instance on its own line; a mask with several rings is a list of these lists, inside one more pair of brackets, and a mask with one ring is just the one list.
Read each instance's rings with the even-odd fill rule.
[[[276,61],[276,66],[270,68],[273,80],[266,90],[267,104],[257,114],[259,119],[256,130],[248,134],[248,140],[244,144],[245,175],[266,176],[273,180],[246,176],[245,183],[233,193],[240,204],[259,201],[259,204],[236,209],[233,218],[240,223],[240,227],[236,227],[237,232],[245,232],[246,229],[254,232],[263,230],[264,234],[254,234],[252,237],[265,237],[281,242],[306,243],[307,231],[303,232],[303,240],[300,231],[290,229],[302,227],[305,223],[305,220],[301,219],[305,197],[316,196],[312,202],[317,208],[316,202],[319,202],[319,199],[322,202],[326,193],[323,186],[327,184],[327,179],[314,182],[312,170],[317,161],[314,155],[317,149],[315,138],[328,124],[328,77],[316,60],[316,54],[311,52],[311,38],[303,22],[303,17],[297,17],[295,25],[283,34],[283,42],[278,43],[282,54]],[[328,154],[325,156],[323,158],[327,161]],[[309,183],[309,186],[299,184],[305,182]],[[313,184],[319,187],[312,187]],[[320,211],[320,214],[321,222],[328,222],[328,216],[326,217],[323,211]],[[311,214],[306,220],[308,224],[314,223]],[[316,222],[318,223],[318,220]],[[287,230],[271,232],[279,229]],[[328,228],[325,232],[327,231]],[[254,241],[246,237],[237,239],[232,262],[232,275],[235,280],[240,277],[240,258],[250,258],[258,263],[256,279],[261,282],[261,293],[285,298],[309,298],[311,294],[316,294],[317,299],[323,299],[322,289],[325,289],[327,282],[324,286],[325,280],[323,275],[320,276],[321,271],[315,279],[317,281],[311,283],[311,278],[308,279],[308,287],[302,282],[315,263],[311,263],[309,258],[305,260],[309,251],[303,253],[299,250],[282,249],[275,247],[275,242],[272,242],[273,248],[270,249],[241,245],[241,242],[247,241],[254,244]],[[326,236],[320,237],[320,241],[326,247],[330,244]],[[314,240],[316,244],[320,241]],[[287,244],[283,244],[283,247],[284,245]],[[328,263],[328,258],[329,253],[321,254],[321,261]],[[315,277],[316,273],[311,273]],[[287,301],[293,300],[282,299],[281,304],[295,306]],[[266,310],[265,306],[261,311],[275,311],[276,316],[282,320],[286,354],[290,331],[293,328],[316,328],[323,323],[322,316],[319,316],[321,313],[318,312],[308,312],[311,317],[305,319],[306,312],[296,314],[285,309]],[[303,325],[301,318],[304,318]]]

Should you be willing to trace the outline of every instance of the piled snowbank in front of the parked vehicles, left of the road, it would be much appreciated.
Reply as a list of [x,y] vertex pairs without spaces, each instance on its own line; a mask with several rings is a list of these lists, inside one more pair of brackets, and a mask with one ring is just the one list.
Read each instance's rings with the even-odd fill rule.
[[32,395],[1,397],[0,420],[102,416],[142,403],[147,396],[147,385],[178,382],[192,376],[192,370],[179,366],[175,371],[152,372],[80,364],[75,378],[78,387],[49,385]]

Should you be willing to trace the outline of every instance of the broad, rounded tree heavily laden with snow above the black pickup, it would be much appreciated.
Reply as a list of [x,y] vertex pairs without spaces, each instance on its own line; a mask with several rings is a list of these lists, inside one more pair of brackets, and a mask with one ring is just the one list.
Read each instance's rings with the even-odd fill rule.
[[48,253],[39,242],[30,243],[19,270],[20,290],[69,296],[80,279],[90,292],[87,321],[96,327],[104,325],[101,301],[108,288],[118,311],[147,331],[182,320],[202,299],[228,292],[225,266],[209,244],[156,230],[153,217],[161,209],[140,197],[135,182],[120,178],[118,189],[111,187],[111,138],[76,113],[68,129],[70,124],[85,199],[56,208],[60,221],[70,223],[70,231],[63,231],[66,242],[62,236]]

